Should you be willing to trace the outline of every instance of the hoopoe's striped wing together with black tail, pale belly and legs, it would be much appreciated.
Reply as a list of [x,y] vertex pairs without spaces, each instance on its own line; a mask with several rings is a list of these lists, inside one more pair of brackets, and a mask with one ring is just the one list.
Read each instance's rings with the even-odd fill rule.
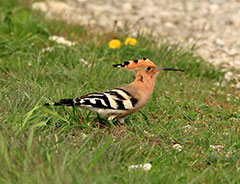
[[46,103],[45,106],[76,106],[95,111],[108,117],[109,121],[117,118],[123,123],[123,114],[134,109],[138,100],[124,89],[116,88],[106,92],[89,93],[75,99],[61,99],[59,102]]

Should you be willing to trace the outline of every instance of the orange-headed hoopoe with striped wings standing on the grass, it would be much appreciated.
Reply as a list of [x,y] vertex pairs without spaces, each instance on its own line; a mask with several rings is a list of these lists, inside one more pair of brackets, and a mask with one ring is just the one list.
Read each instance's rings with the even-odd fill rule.
[[74,99],[61,99],[59,102],[47,103],[45,105],[77,106],[95,111],[107,117],[110,122],[116,118],[123,124],[126,116],[138,111],[147,103],[153,93],[155,79],[159,71],[184,71],[181,69],[157,67],[147,58],[125,61],[122,64],[113,66],[135,71],[135,80],[126,86],[110,91],[89,93]]

